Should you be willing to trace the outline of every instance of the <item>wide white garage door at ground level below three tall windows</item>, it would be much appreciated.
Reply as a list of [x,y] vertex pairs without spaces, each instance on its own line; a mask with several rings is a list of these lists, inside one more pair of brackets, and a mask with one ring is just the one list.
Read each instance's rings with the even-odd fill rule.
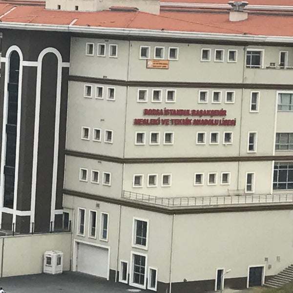
[[78,272],[107,278],[108,277],[108,250],[102,247],[77,243]]

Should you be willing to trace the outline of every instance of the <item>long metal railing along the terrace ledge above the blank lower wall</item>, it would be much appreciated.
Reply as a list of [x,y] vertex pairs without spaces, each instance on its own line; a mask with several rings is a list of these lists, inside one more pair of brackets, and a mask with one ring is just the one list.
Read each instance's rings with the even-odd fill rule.
[[245,194],[233,196],[159,197],[123,190],[122,198],[163,207],[206,207],[293,203],[293,194]]

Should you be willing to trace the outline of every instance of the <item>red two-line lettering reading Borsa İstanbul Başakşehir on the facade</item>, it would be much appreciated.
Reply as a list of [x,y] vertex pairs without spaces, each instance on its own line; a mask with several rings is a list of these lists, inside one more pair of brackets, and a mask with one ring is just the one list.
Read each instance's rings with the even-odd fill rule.
[[[190,109],[144,109],[144,115],[165,116],[164,118],[135,118],[134,125],[218,125],[235,126],[236,118],[226,119],[227,111]],[[166,116],[187,116],[186,118],[166,118]],[[191,117],[190,117],[191,116]],[[196,116],[197,118],[193,118]],[[223,117],[224,116],[224,117]],[[203,118],[205,117],[205,118]]]

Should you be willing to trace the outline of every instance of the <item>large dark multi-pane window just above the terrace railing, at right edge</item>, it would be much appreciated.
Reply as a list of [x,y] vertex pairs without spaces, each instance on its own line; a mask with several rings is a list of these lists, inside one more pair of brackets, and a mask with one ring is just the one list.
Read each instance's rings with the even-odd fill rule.
[[275,163],[273,189],[293,189],[293,162]]

